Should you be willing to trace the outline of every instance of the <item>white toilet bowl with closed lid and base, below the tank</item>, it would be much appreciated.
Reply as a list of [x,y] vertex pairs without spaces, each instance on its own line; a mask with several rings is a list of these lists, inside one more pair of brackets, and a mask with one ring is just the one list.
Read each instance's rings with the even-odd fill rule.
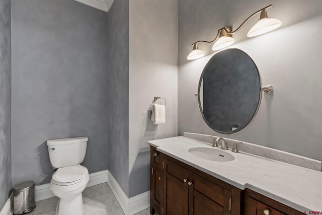
[[53,174],[50,189],[59,198],[56,215],[84,214],[82,192],[89,179],[87,168],[79,164],[59,168]]

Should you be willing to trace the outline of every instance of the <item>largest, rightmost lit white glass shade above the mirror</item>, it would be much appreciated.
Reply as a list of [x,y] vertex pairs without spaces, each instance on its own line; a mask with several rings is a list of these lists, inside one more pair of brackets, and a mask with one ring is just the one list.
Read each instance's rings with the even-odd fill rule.
[[257,35],[265,34],[270,32],[282,25],[282,22],[274,18],[263,18],[260,19],[248,32],[248,37],[255,37]]

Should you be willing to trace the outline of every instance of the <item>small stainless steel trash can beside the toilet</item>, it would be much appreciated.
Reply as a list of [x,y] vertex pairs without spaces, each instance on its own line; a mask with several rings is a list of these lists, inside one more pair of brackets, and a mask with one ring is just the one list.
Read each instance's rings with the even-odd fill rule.
[[36,207],[35,189],[34,181],[27,181],[14,187],[14,214],[28,213]]

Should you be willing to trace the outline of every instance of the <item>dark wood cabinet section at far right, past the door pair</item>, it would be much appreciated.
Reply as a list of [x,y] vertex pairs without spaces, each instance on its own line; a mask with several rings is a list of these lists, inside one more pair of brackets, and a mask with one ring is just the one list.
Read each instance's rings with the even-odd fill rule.
[[300,215],[303,212],[290,208],[250,189],[244,190],[244,214],[247,215]]

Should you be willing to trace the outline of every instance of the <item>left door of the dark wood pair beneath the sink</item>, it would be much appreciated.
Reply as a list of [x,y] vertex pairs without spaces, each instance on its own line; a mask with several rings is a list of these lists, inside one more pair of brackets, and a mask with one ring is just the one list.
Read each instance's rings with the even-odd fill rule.
[[164,160],[164,214],[188,215],[189,171]]

